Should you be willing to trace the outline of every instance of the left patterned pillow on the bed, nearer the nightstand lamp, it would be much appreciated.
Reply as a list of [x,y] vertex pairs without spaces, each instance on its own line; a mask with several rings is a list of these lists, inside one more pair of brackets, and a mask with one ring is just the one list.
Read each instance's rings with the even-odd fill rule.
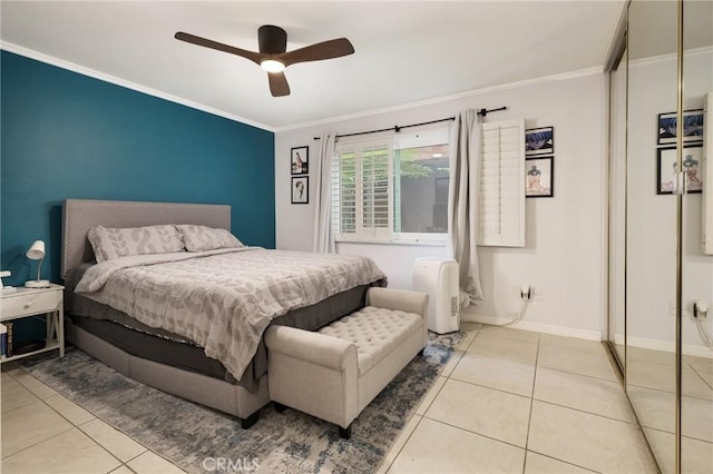
[[87,238],[98,263],[129,255],[184,251],[180,233],[173,224],[126,228],[97,226],[89,229]]

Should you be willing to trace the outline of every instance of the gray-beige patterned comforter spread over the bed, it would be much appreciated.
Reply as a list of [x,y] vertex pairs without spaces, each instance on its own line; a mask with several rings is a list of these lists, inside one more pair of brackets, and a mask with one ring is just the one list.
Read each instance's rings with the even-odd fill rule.
[[273,318],[382,278],[365,257],[243,247],[104,261],[76,292],[196,342],[240,381]]

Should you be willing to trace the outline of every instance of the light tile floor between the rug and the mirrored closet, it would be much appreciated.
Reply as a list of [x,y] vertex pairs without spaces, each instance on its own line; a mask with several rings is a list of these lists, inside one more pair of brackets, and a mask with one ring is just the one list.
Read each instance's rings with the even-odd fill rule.
[[465,324],[379,473],[656,473],[600,343]]

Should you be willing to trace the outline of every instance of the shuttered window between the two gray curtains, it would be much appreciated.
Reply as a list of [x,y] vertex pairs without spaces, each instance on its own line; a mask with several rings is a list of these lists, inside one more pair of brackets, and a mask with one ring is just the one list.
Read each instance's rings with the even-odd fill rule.
[[340,142],[332,161],[338,240],[445,240],[449,129]]

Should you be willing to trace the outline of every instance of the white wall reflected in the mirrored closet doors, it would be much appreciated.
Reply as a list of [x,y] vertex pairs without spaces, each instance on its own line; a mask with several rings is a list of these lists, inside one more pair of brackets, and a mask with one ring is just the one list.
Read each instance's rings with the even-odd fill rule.
[[[713,89],[713,50],[684,59],[684,109],[703,108]],[[656,195],[656,119],[676,110],[675,58],[653,58],[629,66],[627,337],[633,345],[673,349],[675,317],[670,307],[676,284],[676,197]],[[710,116],[706,118],[710,120]],[[713,256],[702,253],[702,195],[683,199],[684,350],[703,347],[690,309],[695,299],[713,303]],[[707,318],[713,333],[713,318]]]

